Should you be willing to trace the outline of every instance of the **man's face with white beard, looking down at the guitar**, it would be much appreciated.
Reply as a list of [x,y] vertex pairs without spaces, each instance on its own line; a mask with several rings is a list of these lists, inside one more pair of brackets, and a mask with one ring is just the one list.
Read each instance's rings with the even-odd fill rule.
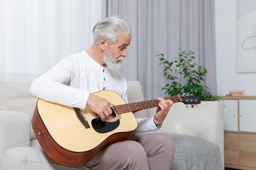
[[131,44],[131,35],[121,34],[116,42],[108,46],[104,53],[104,63],[110,69],[119,69],[121,67],[121,60],[127,56],[127,46]]

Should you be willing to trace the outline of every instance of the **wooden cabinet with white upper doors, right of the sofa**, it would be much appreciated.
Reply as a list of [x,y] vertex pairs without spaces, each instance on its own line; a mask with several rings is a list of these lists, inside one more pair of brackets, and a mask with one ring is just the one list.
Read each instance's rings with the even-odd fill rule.
[[256,97],[223,96],[224,165],[256,169]]

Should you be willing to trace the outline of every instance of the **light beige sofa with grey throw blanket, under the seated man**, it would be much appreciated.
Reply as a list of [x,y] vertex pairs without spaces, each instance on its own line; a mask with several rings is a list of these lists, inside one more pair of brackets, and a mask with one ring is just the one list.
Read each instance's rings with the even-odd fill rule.
[[[37,99],[29,93],[30,82],[0,80],[0,169],[88,169],[63,167],[44,154],[31,128]],[[128,82],[129,102],[144,101],[140,83]],[[137,117],[154,109],[136,112]],[[223,169],[223,103],[202,102],[187,109],[175,103],[163,127],[151,133],[167,133],[175,141],[171,169]]]

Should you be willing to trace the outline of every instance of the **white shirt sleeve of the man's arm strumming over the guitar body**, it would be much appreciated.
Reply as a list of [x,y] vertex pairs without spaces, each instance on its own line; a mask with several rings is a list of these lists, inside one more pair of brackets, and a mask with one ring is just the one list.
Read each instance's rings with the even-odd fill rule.
[[33,97],[84,109],[89,92],[68,86],[74,73],[74,61],[64,59],[47,73],[33,80],[30,93]]

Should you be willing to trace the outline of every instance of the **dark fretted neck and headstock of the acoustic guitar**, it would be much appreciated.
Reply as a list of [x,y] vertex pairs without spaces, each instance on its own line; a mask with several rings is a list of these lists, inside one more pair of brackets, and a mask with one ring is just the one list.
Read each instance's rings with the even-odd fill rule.
[[[173,103],[181,102],[181,97],[179,95],[164,97],[164,99],[170,99]],[[152,107],[158,107],[159,101],[158,99],[148,100],[148,101],[140,101],[136,103],[129,103],[124,105],[116,105],[113,108],[116,110],[117,114],[122,114],[125,112],[137,112],[143,109],[149,109]]]

